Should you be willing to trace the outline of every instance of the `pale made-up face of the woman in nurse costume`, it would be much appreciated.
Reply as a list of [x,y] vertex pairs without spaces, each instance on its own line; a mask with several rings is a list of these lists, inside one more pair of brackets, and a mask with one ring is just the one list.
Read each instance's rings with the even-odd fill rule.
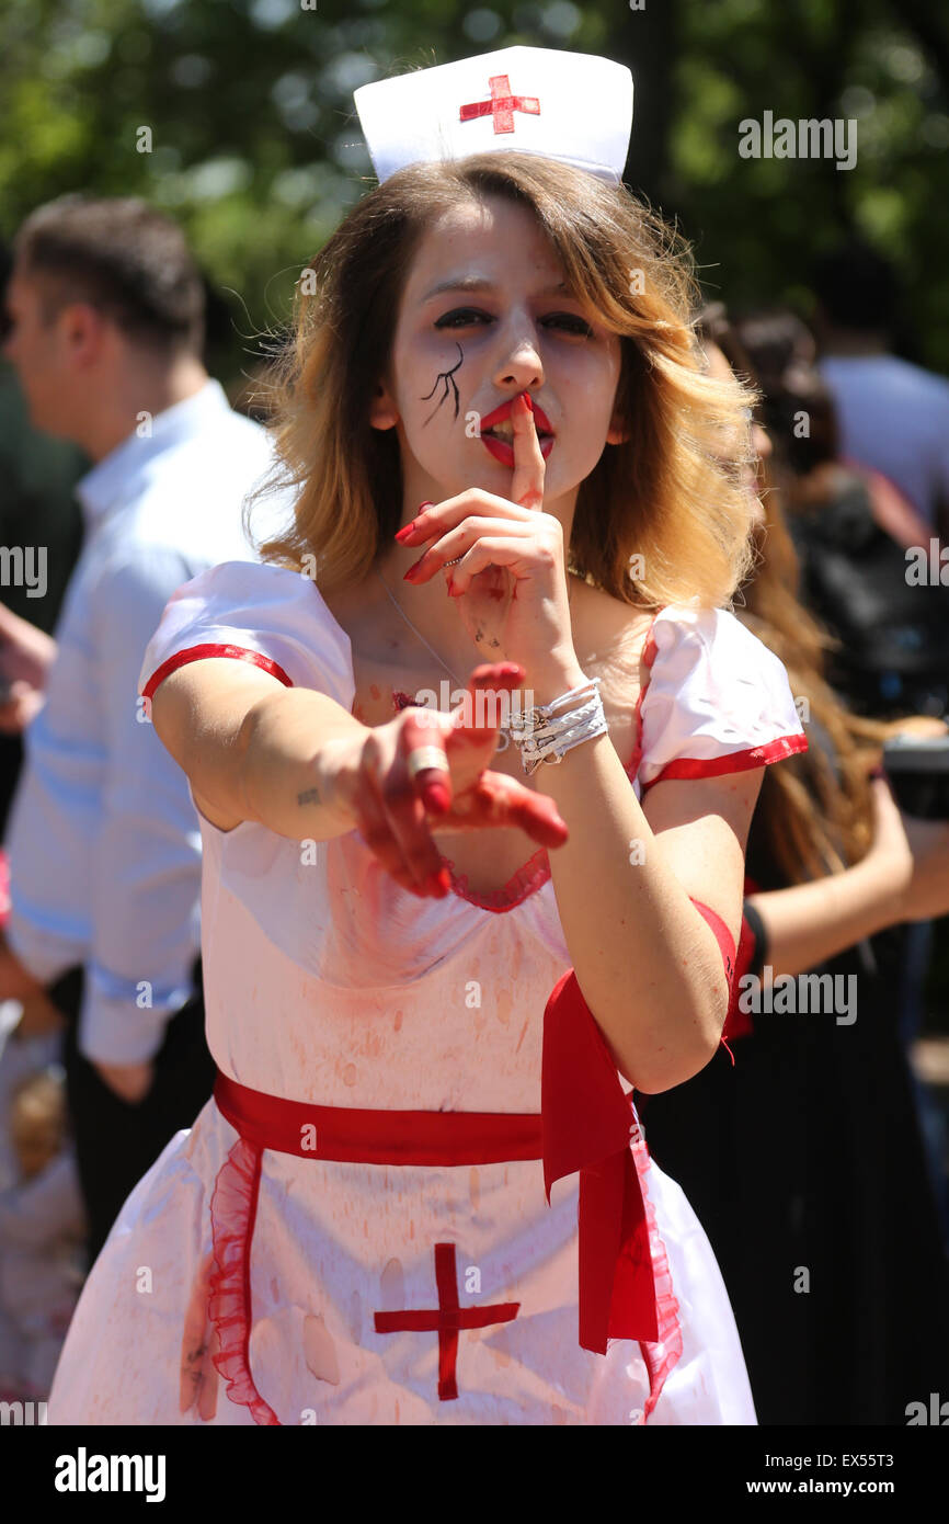
[[621,439],[620,340],[562,282],[530,212],[504,198],[452,207],[425,233],[370,415],[376,428],[398,428],[413,514],[423,498],[472,486],[510,495],[513,456],[480,428],[503,434],[510,425],[492,415],[529,392],[547,460],[544,507],[568,524],[580,482]]

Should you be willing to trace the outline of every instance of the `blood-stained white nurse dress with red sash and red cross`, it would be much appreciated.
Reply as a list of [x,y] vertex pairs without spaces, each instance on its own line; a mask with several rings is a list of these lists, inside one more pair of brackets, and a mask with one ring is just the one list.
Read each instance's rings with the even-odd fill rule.
[[[353,703],[347,636],[280,567],[181,587],[139,692],[201,655]],[[643,660],[637,797],[806,750],[781,663],[733,614],[663,610]],[[711,1248],[649,1161],[545,852],[487,907],[460,879],[417,899],[356,831],[201,835],[222,1079],[125,1202],[49,1422],[754,1423]]]

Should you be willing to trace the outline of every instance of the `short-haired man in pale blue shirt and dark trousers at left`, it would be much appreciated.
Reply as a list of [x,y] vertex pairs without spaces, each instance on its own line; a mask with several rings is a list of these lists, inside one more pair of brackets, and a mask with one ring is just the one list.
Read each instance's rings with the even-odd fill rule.
[[254,558],[242,500],[273,459],[204,370],[203,314],[181,232],[146,203],[66,197],[17,236],[6,355],[37,427],[96,465],[8,826],[0,1000],[56,985],[78,1007],[66,1053],[93,1251],[213,1074],[187,1004],[198,821],[136,693],[175,588]]

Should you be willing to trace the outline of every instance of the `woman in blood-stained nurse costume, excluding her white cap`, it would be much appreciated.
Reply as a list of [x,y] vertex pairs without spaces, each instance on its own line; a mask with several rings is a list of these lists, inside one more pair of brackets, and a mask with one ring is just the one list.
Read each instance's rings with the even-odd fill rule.
[[[292,527],[186,584],[142,671],[221,1077],[50,1422],[752,1423],[629,1102],[716,1052],[762,774],[806,748],[724,608],[748,395],[702,373],[667,230],[550,158],[402,169],[312,276]],[[518,695],[564,701],[559,765],[536,716],[498,742]]]

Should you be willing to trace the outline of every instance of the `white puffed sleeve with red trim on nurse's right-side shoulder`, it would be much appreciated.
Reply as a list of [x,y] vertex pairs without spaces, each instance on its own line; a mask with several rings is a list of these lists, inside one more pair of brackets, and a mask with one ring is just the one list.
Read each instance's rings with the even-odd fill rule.
[[643,652],[643,791],[667,779],[719,777],[807,750],[788,672],[724,608],[661,610]]

